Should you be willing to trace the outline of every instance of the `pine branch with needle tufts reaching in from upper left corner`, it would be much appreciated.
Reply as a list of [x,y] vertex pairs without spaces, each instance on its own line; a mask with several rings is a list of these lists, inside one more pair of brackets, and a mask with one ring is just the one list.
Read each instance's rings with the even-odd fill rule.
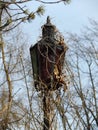
[[42,15],[44,13],[43,6],[39,6],[36,11],[29,11],[27,3],[30,0],[23,1],[0,1],[0,16],[2,25],[0,25],[0,31],[6,32],[25,21],[34,20],[36,15]]

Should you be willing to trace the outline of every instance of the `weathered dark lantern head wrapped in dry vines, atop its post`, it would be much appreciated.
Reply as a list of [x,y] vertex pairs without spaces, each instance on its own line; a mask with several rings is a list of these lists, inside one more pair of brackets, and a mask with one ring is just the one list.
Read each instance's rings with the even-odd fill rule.
[[48,16],[42,26],[42,39],[30,47],[34,85],[38,91],[56,90],[63,85],[61,75],[67,49]]

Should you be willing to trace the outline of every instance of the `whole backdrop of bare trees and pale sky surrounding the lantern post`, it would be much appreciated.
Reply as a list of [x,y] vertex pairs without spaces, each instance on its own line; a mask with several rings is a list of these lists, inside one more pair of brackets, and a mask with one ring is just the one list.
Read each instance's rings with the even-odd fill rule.
[[43,128],[42,99],[33,86],[29,47],[40,39],[47,15],[69,47],[64,73],[70,84],[61,94],[54,93],[57,98],[51,97],[55,109],[52,129],[97,129],[98,1],[68,3],[0,1],[1,130]]

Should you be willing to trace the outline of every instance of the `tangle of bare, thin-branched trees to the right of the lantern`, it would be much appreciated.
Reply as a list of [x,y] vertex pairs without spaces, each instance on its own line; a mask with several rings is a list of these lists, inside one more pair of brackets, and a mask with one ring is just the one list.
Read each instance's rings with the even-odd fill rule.
[[70,34],[70,61],[74,78],[69,104],[72,110],[74,129],[94,130],[98,127],[98,23],[91,20],[82,36]]

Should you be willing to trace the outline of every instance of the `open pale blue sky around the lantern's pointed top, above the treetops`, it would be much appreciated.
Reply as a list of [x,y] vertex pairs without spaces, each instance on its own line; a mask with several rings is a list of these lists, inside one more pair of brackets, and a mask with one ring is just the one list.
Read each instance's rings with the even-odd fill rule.
[[[32,1],[28,4],[28,7],[30,10],[36,10],[39,5],[43,4]],[[22,25],[23,32],[27,34],[30,45],[39,40],[41,26],[45,24],[48,15],[51,22],[63,35],[66,35],[66,32],[80,33],[84,26],[90,25],[90,18],[98,21],[98,0],[71,0],[70,4],[67,5],[63,2],[52,5],[45,4],[44,8],[43,16],[37,16],[31,23],[26,22]]]

